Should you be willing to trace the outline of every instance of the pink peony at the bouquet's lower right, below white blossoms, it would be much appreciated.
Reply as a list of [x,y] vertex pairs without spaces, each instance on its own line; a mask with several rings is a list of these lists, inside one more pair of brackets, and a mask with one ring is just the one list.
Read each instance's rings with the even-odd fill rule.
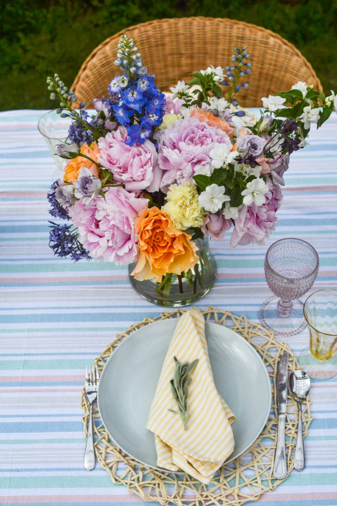
[[277,218],[275,213],[282,200],[280,187],[273,185],[268,179],[269,191],[265,194],[266,202],[257,206],[255,203],[249,207],[243,205],[239,210],[238,218],[234,220],[234,230],[230,239],[230,246],[242,246],[255,242],[264,244],[264,239],[275,230]]

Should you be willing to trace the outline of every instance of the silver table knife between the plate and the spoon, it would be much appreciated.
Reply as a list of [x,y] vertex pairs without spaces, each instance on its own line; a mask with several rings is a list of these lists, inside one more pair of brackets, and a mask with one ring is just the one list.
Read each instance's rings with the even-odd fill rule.
[[277,445],[274,459],[273,475],[279,480],[286,477],[285,460],[285,413],[288,384],[288,352],[281,356],[276,372],[277,395]]

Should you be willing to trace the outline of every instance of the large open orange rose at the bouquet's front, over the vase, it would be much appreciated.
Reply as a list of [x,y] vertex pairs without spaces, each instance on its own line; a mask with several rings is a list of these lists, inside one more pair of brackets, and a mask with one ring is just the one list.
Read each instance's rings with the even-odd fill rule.
[[175,228],[167,213],[158,207],[144,208],[134,219],[138,233],[138,262],[131,273],[139,281],[167,273],[181,274],[198,262],[190,235]]

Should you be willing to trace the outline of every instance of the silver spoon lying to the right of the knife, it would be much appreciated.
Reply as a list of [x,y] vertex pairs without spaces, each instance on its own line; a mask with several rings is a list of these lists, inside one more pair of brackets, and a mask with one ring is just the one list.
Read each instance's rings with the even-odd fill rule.
[[301,403],[305,400],[310,389],[310,378],[305,371],[297,369],[293,371],[289,377],[288,389],[290,395],[297,402],[299,407],[299,425],[298,434],[295,448],[294,467],[296,471],[303,471],[304,469],[304,444],[303,444],[303,431],[302,431],[302,406]]

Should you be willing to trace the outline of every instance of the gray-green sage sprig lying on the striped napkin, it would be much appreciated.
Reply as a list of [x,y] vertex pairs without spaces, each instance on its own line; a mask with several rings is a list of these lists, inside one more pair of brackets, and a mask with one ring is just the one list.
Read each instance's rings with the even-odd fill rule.
[[180,414],[184,424],[184,430],[187,430],[187,400],[188,400],[188,385],[192,381],[192,378],[188,375],[192,369],[197,365],[199,359],[197,358],[190,364],[188,362],[180,363],[176,357],[173,357],[175,361],[175,370],[173,379],[171,379],[171,392],[174,400],[178,405],[179,411],[169,409],[172,413]]

